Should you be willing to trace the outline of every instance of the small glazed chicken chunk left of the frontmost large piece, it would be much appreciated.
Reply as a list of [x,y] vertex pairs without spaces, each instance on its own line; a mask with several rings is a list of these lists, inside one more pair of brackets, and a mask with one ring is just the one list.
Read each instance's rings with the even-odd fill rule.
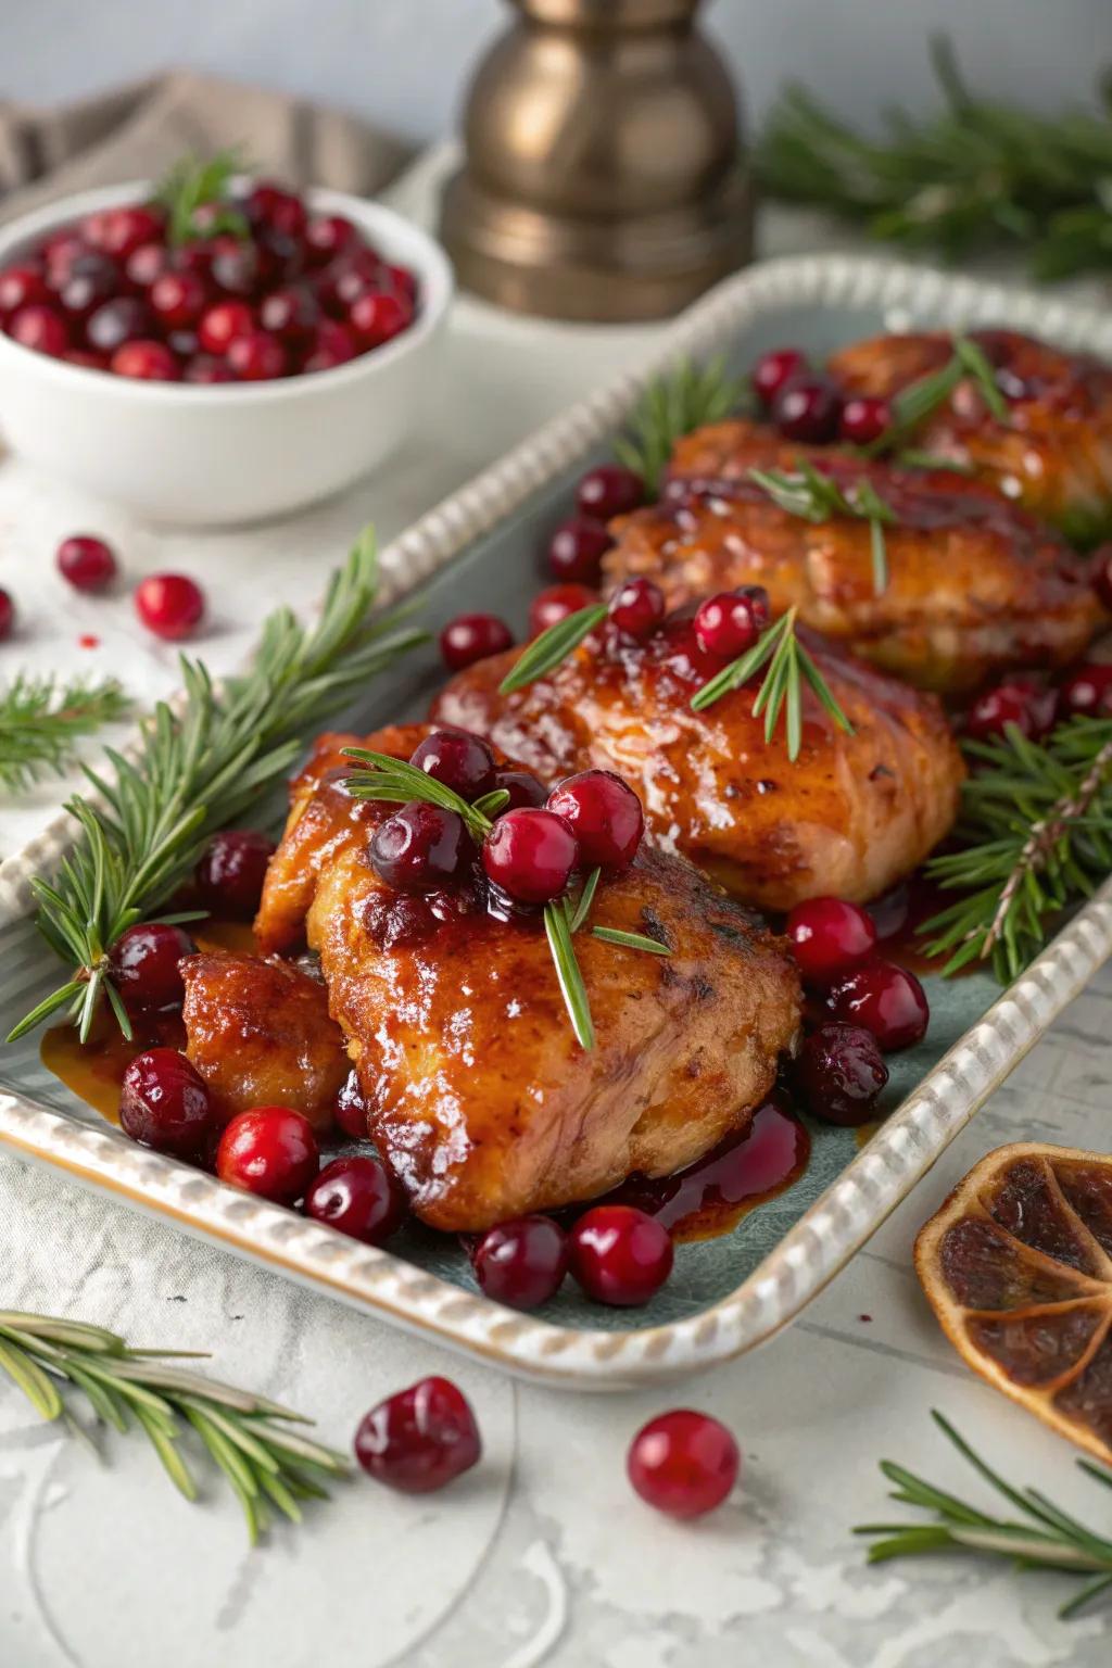
[[315,974],[277,957],[202,952],[182,962],[185,1053],[230,1118],[292,1106],[327,1129],[350,1063]]

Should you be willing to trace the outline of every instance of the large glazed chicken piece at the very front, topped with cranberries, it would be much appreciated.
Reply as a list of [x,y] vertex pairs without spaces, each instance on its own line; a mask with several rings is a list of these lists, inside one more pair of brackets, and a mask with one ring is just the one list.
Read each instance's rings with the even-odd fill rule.
[[[407,757],[427,727],[363,746]],[[799,1026],[780,941],[689,864],[642,849],[604,881],[592,922],[649,934],[667,957],[582,931],[595,1048],[575,1041],[538,916],[500,919],[482,891],[415,899],[368,862],[390,806],[342,786],[327,736],[293,784],[257,932],[318,951],[378,1149],[433,1228],[477,1231],[594,1198],[632,1171],[669,1174],[745,1129]]]

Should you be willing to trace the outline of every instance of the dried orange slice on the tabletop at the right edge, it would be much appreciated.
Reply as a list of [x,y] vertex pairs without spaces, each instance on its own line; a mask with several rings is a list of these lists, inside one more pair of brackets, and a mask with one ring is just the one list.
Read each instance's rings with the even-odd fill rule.
[[920,1229],[915,1269],[975,1373],[1112,1465],[1112,1158],[997,1148]]

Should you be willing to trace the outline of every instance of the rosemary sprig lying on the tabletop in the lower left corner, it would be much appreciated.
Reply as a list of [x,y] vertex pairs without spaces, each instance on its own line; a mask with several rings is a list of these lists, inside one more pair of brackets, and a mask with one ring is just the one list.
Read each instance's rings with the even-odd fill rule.
[[300,1413],[167,1364],[188,1354],[132,1349],[117,1333],[83,1321],[0,1311],[0,1369],[43,1419],[65,1419],[87,1436],[70,1413],[68,1391],[80,1393],[117,1431],[128,1431],[133,1421],[173,1486],[197,1500],[197,1483],[178,1446],[185,1421],[238,1496],[252,1545],[267,1530],[273,1506],[300,1523],[300,1501],[325,1500],[325,1481],[345,1476],[347,1460],[303,1436],[295,1426],[312,1419]]

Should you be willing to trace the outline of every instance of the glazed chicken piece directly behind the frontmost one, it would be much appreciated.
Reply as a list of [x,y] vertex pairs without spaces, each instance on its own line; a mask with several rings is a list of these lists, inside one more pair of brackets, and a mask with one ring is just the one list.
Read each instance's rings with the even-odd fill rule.
[[754,689],[692,712],[707,674],[695,676],[670,641],[617,656],[589,641],[547,677],[500,696],[520,652],[508,651],[453,677],[432,716],[478,731],[548,781],[617,771],[639,791],[659,846],[765,909],[875,897],[949,832],[964,766],[934,696],[810,639],[854,734],[807,689],[792,764],[784,721],[765,742]]

